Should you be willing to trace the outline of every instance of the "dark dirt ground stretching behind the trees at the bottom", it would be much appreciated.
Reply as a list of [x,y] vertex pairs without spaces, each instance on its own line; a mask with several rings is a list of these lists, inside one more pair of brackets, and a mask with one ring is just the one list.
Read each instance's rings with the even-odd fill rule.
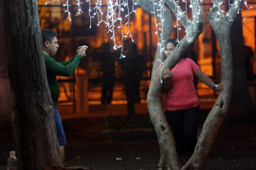
[[[148,115],[138,116],[136,122],[130,123],[132,125],[113,117],[64,119],[63,124],[68,142],[66,167],[158,169],[160,150]],[[116,130],[128,126],[136,129]],[[106,131],[108,127],[113,130]],[[199,131],[200,128],[201,125]],[[6,170],[6,166],[0,165],[0,170]],[[256,124],[222,125],[205,170],[256,170]]]

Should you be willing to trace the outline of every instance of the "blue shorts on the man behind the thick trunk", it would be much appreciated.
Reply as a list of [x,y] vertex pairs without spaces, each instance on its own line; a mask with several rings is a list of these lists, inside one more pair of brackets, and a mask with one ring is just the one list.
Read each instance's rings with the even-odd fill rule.
[[65,136],[65,133],[64,133],[63,125],[61,123],[60,112],[58,111],[57,106],[54,106],[54,119],[55,119],[55,126],[56,126],[56,130],[57,130],[59,146],[67,145],[67,141],[66,141],[66,136]]

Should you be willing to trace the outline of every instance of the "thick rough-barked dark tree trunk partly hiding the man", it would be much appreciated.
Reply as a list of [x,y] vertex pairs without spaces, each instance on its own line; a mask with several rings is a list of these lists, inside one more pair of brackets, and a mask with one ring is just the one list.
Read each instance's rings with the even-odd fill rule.
[[3,19],[19,170],[61,166],[36,0],[5,0]]

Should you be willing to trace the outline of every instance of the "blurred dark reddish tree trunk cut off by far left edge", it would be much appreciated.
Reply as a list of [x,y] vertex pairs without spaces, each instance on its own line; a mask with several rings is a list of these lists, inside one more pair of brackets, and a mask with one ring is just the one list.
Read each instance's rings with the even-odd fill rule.
[[[3,11],[3,1],[0,1],[0,11]],[[6,38],[3,27],[3,14],[0,12],[0,129],[11,127],[11,92],[8,79],[8,57],[6,57]]]

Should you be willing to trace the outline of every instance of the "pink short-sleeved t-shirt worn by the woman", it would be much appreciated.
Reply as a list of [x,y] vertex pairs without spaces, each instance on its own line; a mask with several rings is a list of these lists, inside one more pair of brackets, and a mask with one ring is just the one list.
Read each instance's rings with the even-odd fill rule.
[[199,105],[194,86],[194,72],[198,65],[189,58],[182,58],[172,68],[171,87],[166,94],[166,110],[185,110]]

